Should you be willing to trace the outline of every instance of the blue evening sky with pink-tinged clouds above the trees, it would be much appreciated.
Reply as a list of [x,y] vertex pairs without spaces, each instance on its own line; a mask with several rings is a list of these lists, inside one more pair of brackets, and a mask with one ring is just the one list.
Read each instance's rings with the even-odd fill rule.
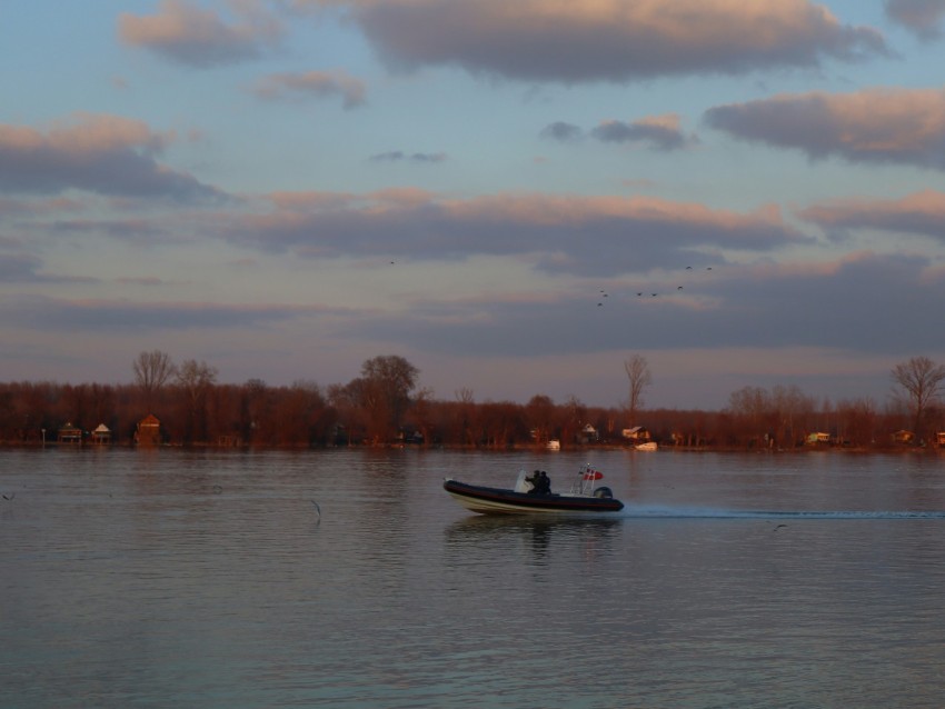
[[4,0],[0,381],[723,409],[945,362],[945,0]]

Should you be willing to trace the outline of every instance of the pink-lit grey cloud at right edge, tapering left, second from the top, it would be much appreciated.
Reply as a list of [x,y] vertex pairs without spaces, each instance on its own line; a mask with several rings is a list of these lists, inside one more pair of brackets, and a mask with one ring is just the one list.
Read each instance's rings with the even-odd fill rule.
[[712,108],[704,119],[742,140],[793,148],[812,159],[945,169],[942,89],[786,93]]

